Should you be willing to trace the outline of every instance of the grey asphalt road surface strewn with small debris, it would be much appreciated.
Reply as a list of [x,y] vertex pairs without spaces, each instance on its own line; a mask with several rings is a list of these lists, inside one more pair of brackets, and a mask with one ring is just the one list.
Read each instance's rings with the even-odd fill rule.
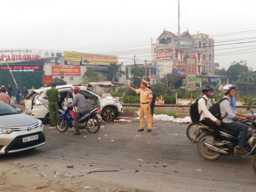
[[[120,188],[140,191],[255,191],[256,176],[251,157],[221,157],[207,161],[186,136],[187,124],[154,121],[152,132],[137,132],[139,121],[102,124],[93,134],[86,130],[73,136],[46,127],[47,144],[26,153],[1,156],[4,161],[37,161],[58,172],[73,164],[73,172],[101,168],[84,177]],[[137,170],[137,172],[136,172]],[[74,178],[75,180],[75,178]],[[102,190],[103,191],[103,190]],[[124,190],[125,191],[125,190]],[[129,191],[129,190],[127,190]]]

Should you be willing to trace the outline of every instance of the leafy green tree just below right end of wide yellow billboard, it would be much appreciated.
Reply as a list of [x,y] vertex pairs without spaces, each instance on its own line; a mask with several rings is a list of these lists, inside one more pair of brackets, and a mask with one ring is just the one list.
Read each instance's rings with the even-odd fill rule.
[[110,63],[106,72],[107,80],[119,82],[119,78],[125,74],[125,72],[121,70],[122,66],[123,66],[123,63],[121,64]]

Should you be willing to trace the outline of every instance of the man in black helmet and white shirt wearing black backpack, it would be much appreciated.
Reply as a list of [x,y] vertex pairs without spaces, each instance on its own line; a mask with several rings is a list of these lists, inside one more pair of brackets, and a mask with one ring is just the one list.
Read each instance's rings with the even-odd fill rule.
[[204,85],[202,87],[203,98],[198,100],[198,112],[201,113],[199,122],[213,129],[213,141],[212,145],[216,145],[218,143],[218,132],[219,126],[221,125],[221,121],[217,119],[212,113],[209,111],[210,107],[212,107],[211,97],[214,95],[215,89],[212,85]]

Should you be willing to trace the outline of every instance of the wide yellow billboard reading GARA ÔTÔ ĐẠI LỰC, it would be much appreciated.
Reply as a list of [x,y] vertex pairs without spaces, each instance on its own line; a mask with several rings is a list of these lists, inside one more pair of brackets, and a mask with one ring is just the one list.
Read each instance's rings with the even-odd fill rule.
[[118,63],[118,56],[82,53],[83,66],[99,66],[99,65],[106,66],[106,65],[109,65],[110,63]]

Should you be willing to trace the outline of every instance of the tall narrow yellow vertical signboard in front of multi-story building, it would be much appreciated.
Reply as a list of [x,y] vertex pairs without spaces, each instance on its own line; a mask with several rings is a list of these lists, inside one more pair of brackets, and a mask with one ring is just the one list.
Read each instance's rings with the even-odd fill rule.
[[187,59],[188,91],[196,90],[196,59]]

